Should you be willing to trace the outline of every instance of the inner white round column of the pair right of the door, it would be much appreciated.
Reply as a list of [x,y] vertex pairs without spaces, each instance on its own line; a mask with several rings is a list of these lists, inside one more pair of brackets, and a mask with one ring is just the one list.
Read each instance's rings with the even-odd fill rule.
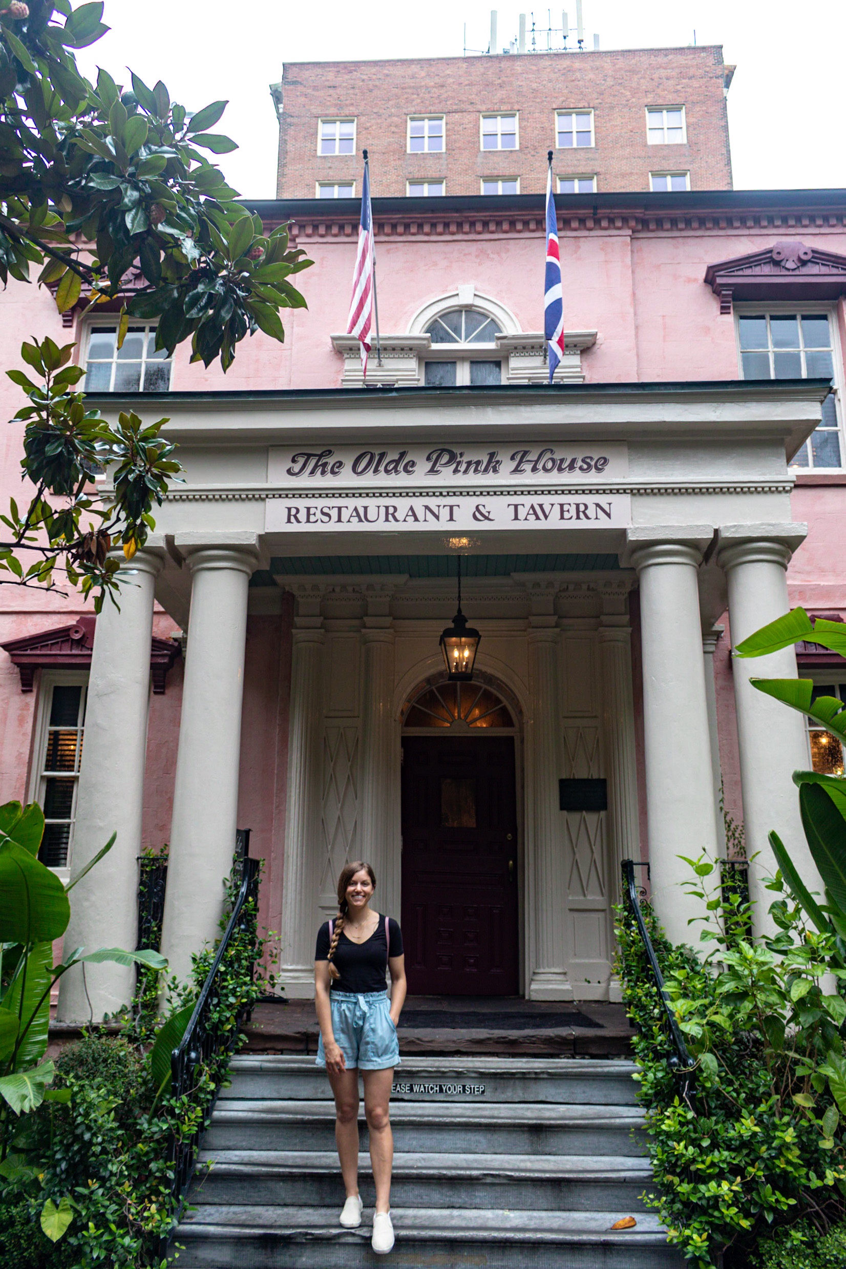
[[628,560],[641,581],[643,722],[652,902],[674,943],[699,945],[704,916],[685,892],[686,855],[717,858],[696,574],[710,528],[630,529]]

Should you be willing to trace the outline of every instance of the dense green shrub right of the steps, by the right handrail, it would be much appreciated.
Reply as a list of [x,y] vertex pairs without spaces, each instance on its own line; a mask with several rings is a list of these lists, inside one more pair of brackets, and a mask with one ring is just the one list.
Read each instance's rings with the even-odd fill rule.
[[641,1066],[648,1148],[657,1192],[649,1199],[687,1259],[753,1251],[772,1226],[813,1217],[818,1233],[846,1212],[846,1148],[827,1079],[827,1055],[842,1053],[840,996],[821,994],[824,937],[798,907],[778,900],[774,939],[739,938],[748,920],[737,896],[713,905],[710,959],[672,947],[648,905],[644,915],[667,992],[696,1060],[685,1100],[675,1049],[634,921],[620,911],[619,971]]

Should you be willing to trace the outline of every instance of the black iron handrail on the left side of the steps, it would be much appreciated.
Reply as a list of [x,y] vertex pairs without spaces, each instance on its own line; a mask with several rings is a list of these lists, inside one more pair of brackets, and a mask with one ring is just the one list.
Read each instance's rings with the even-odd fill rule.
[[[184,1096],[190,1093],[194,1088],[194,1072],[198,1066],[203,1062],[208,1062],[214,1056],[223,1056],[232,1052],[241,1023],[249,1014],[249,1008],[241,1009],[236,1019],[236,1025],[226,1033],[221,1033],[212,1022],[212,1011],[214,1010],[218,1000],[216,991],[217,976],[223,963],[223,958],[230,948],[230,943],[232,942],[232,935],[236,931],[241,933],[245,930],[247,928],[247,921],[254,923],[257,911],[259,869],[261,860],[250,859],[249,857],[249,829],[238,829],[237,849],[241,855],[241,886],[235,898],[235,904],[232,905],[232,915],[230,916],[226,930],[223,931],[223,938],[221,939],[217,954],[212,962],[212,968],[209,970],[205,982],[203,983],[203,989],[197,999],[194,1013],[192,1014],[188,1027],[185,1028],[185,1033],[179,1042],[179,1046],[170,1056],[171,1090],[175,1096]],[[245,912],[245,906],[250,902],[250,900],[252,900],[252,909]],[[175,1218],[179,1217],[184,1197],[188,1192],[188,1187],[190,1185],[192,1176],[194,1175],[197,1148],[199,1146],[200,1137],[205,1131],[208,1118],[214,1109],[214,1103],[217,1101],[221,1091],[223,1077],[223,1071],[219,1071],[216,1075],[212,1100],[205,1108],[203,1121],[198,1126],[197,1131],[188,1138],[178,1140],[174,1136],[171,1141],[171,1162],[174,1166],[171,1193],[175,1200]]]

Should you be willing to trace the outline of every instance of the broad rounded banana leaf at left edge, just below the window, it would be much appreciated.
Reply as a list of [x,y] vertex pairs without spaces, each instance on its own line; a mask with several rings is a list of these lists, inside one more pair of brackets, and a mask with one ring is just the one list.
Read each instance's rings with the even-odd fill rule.
[[9,838],[0,841],[0,943],[51,943],[67,929],[71,905],[49,868]]

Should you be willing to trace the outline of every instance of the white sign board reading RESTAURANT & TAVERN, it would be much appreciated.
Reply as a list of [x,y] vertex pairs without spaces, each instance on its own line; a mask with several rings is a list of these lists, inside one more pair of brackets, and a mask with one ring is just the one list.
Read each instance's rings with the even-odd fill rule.
[[632,523],[628,494],[469,497],[269,497],[268,533],[402,533],[479,529],[623,529]]

